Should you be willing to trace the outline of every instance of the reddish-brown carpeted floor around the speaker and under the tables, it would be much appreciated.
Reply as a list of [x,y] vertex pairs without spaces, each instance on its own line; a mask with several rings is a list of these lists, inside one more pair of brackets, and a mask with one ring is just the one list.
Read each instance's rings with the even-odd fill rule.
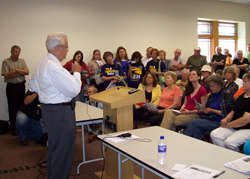
[[[146,127],[140,124],[140,127]],[[70,179],[92,179],[94,173],[103,169],[103,161],[84,164],[80,167],[80,175],[77,176],[77,165],[82,161],[82,137],[81,131],[76,132],[74,164]],[[87,131],[85,131],[87,134]],[[86,160],[102,157],[101,142],[95,139],[88,143],[88,135],[85,137]],[[18,137],[10,133],[0,136],[0,179],[35,179],[47,178],[46,167],[41,168],[37,163],[46,161],[47,149],[34,140],[29,140],[27,146],[20,146]],[[135,174],[141,176],[141,167],[135,165]],[[145,178],[158,178],[145,170]]]

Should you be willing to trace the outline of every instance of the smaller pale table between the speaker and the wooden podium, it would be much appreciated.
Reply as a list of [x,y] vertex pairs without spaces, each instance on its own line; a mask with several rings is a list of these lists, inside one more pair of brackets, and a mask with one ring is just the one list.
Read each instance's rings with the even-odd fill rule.
[[[82,128],[82,158],[83,162],[77,166],[77,175],[79,175],[79,169],[82,164],[96,162],[103,160],[103,158],[93,159],[86,161],[85,159],[85,145],[84,145],[84,125],[88,126],[88,130],[91,131],[89,124],[102,124],[102,131],[104,131],[103,126],[103,110],[97,107],[90,106],[88,104],[76,101],[75,107],[76,114],[76,126],[81,126]],[[104,151],[104,150],[103,150]]]

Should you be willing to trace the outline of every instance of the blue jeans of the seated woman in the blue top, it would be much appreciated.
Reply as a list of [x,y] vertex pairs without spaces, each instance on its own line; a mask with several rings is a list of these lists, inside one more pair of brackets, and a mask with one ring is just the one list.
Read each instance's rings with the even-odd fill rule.
[[193,119],[184,131],[184,134],[196,139],[202,139],[204,132],[211,132],[212,130],[220,127],[219,121],[212,121],[209,119]]

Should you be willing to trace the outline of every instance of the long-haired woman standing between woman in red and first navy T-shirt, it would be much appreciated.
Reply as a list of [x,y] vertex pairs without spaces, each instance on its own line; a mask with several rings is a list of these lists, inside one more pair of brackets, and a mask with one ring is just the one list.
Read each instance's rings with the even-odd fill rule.
[[94,85],[99,92],[103,91],[103,83],[97,85],[95,82],[95,74],[101,73],[102,65],[106,64],[106,62],[101,59],[101,52],[100,50],[96,49],[93,51],[93,57],[88,62],[89,74],[90,74],[90,84]]

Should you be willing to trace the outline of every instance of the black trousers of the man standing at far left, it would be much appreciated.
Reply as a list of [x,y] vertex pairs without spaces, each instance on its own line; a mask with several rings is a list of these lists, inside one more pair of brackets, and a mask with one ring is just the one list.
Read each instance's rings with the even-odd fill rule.
[[6,96],[9,109],[10,130],[16,130],[16,114],[23,104],[25,95],[25,82],[6,85]]

